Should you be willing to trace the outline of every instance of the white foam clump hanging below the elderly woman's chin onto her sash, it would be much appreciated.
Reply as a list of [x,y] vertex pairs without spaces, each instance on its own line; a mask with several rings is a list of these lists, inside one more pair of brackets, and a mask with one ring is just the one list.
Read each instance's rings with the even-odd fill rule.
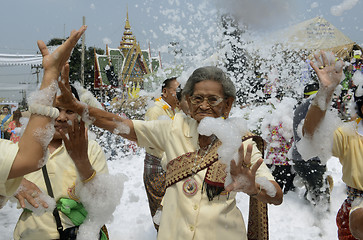
[[[218,148],[218,156],[222,163],[226,164],[225,186],[232,183],[230,175],[231,160],[238,161],[238,149],[242,143],[242,137],[248,132],[247,122],[243,118],[203,118],[198,126],[198,133],[205,136],[216,135],[222,142]],[[237,158],[236,158],[237,156]]]

